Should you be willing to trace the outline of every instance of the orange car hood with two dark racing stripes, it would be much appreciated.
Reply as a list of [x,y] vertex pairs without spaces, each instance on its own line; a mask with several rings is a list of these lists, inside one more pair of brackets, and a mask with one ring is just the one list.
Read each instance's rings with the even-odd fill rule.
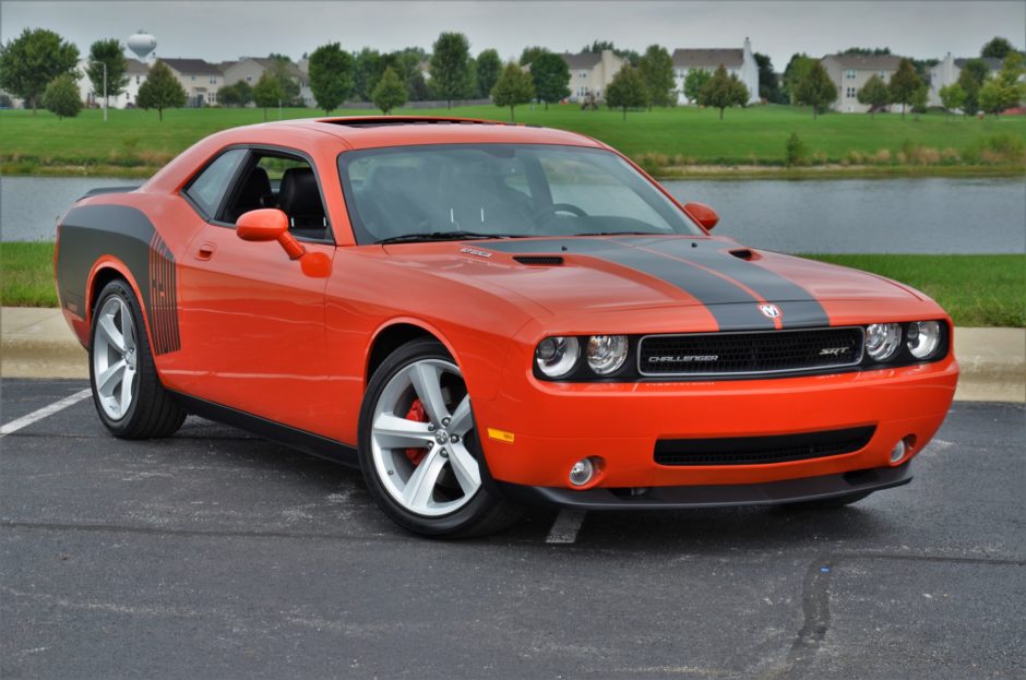
[[[776,312],[788,325],[828,325],[836,300],[917,299],[872,274],[745,248],[724,237],[574,237],[404,243],[387,252],[410,264],[553,314],[704,307],[719,326],[749,327]],[[754,315],[754,317],[753,317]]]

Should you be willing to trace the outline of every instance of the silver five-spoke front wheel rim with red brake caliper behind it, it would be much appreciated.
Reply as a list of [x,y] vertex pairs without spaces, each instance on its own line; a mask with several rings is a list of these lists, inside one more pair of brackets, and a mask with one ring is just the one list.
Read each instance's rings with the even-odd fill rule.
[[[414,413],[426,421],[411,419]],[[374,405],[370,443],[382,486],[417,515],[460,510],[481,487],[480,467],[466,448],[473,428],[470,397],[454,363],[421,359],[404,367]]]

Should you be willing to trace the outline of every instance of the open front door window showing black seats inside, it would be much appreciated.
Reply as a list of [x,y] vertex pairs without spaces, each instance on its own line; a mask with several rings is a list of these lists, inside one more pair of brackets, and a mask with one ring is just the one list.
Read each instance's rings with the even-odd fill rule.
[[288,215],[289,231],[300,238],[329,240],[327,216],[317,175],[310,164],[286,153],[253,150],[255,162],[231,196],[224,220],[235,224],[243,214],[276,207]]

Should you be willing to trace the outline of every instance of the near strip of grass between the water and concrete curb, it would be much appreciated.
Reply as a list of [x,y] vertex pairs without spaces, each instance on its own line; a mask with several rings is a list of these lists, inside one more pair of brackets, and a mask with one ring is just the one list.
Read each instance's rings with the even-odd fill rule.
[[[918,288],[962,326],[1026,326],[1026,255],[807,255]],[[56,307],[53,243],[0,243],[0,303]]]

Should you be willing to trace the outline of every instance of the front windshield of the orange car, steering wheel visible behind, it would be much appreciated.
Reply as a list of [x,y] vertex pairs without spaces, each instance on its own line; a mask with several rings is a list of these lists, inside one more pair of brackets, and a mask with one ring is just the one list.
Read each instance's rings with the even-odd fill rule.
[[357,242],[700,235],[617,154],[541,144],[372,148],[338,157]]

